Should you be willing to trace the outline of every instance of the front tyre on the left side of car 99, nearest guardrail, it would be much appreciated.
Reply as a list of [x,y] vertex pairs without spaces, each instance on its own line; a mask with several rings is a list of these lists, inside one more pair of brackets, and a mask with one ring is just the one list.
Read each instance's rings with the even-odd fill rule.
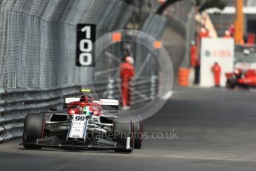
[[43,114],[28,114],[25,117],[23,130],[23,146],[26,149],[41,149],[41,147],[26,144],[34,143],[36,139],[42,138],[45,127],[45,116]]

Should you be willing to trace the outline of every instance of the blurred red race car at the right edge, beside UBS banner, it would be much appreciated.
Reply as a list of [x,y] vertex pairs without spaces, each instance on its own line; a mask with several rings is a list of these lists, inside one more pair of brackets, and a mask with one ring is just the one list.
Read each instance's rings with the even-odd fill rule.
[[236,69],[234,73],[226,73],[227,88],[250,88],[256,87],[256,70],[241,70]]

